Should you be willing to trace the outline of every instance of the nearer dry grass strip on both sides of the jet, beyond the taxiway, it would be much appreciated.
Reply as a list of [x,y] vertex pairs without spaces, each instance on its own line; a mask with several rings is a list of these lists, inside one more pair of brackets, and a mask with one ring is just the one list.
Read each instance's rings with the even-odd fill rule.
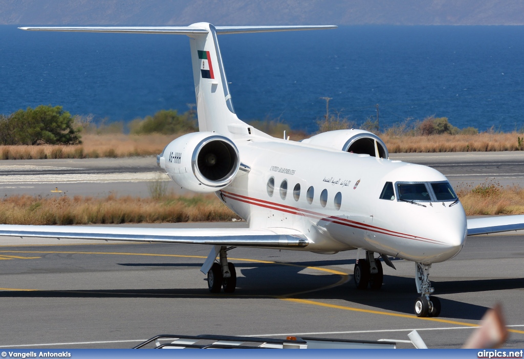
[[[457,186],[466,215],[524,214],[524,188],[485,182]],[[0,206],[0,223],[10,225],[88,225],[155,222],[231,221],[238,218],[214,195],[160,198],[11,196]]]

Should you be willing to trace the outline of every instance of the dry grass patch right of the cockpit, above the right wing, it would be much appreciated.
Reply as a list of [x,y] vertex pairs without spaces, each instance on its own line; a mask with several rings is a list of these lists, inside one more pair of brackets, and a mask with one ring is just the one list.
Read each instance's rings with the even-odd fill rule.
[[524,214],[524,188],[520,186],[486,181],[476,187],[462,183],[456,189],[467,216]]

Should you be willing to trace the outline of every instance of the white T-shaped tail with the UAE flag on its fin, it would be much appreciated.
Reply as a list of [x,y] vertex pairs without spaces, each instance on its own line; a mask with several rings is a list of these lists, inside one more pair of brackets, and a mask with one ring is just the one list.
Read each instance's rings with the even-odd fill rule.
[[196,23],[190,26],[162,27],[21,27],[34,31],[166,33],[187,35],[191,43],[191,59],[196,95],[196,111],[200,131],[224,134],[258,134],[235,114],[217,34],[333,29],[336,26],[213,26]]

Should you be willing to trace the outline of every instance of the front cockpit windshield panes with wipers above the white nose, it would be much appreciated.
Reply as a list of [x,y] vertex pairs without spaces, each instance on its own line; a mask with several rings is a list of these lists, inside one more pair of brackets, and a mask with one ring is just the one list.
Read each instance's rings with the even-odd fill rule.
[[447,181],[397,182],[395,187],[399,201],[445,202],[457,199],[457,195]]

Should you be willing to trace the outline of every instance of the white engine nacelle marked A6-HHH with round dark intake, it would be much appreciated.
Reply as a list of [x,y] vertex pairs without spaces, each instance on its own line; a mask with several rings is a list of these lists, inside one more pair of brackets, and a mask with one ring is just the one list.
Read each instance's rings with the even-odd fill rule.
[[226,187],[240,166],[238,149],[213,132],[184,134],[157,156],[157,164],[180,187],[210,193]]

